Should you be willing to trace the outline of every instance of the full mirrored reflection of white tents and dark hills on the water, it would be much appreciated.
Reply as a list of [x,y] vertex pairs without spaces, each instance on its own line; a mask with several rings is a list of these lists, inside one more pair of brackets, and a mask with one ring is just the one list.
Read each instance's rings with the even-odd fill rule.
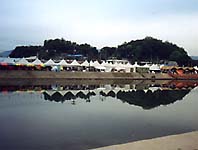
[[99,96],[103,101],[106,97],[121,100],[123,103],[153,109],[160,105],[169,105],[182,100],[198,85],[195,81],[167,81],[152,84],[107,84],[107,85],[1,85],[0,91],[6,92],[40,92],[47,101],[64,103],[71,101],[76,105],[78,99],[91,102],[91,97]]

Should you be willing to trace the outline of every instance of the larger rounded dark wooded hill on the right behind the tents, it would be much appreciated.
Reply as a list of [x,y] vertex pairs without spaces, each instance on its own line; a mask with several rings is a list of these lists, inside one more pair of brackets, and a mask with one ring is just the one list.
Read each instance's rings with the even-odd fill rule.
[[178,47],[170,42],[163,42],[152,37],[146,37],[142,40],[130,41],[119,45],[117,48],[103,48],[102,54],[106,58],[114,57],[134,61],[152,61],[174,60],[179,65],[188,65],[191,58],[183,48]]

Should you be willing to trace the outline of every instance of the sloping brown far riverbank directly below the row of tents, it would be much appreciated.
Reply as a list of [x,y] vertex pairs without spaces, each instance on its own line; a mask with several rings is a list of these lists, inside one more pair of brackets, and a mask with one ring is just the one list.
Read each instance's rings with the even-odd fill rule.
[[139,74],[119,72],[52,72],[0,71],[0,79],[72,79],[72,80],[171,80],[168,74]]

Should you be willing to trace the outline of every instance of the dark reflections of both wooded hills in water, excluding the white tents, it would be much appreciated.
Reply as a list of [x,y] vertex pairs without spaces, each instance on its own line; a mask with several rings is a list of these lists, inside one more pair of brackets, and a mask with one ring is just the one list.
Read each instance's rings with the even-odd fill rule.
[[[130,105],[140,106],[143,109],[152,109],[160,105],[169,105],[178,100],[182,100],[191,90],[182,89],[182,90],[157,90],[157,91],[143,91],[143,90],[132,90],[132,91],[119,91],[117,94],[110,91],[105,94],[101,91],[99,94],[102,97],[113,97],[126,102]],[[64,102],[66,100],[75,100],[77,98],[85,99],[86,102],[90,102],[90,97],[96,95],[94,92],[89,92],[87,95],[83,92],[79,92],[76,95],[73,95],[71,92],[61,95],[56,92],[52,96],[48,95],[46,92],[43,93],[45,100],[55,101],[55,102]]]

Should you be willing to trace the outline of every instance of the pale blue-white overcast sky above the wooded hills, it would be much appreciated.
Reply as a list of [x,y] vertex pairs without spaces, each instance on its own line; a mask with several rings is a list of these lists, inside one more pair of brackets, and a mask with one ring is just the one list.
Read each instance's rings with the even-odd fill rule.
[[198,55],[198,0],[0,1],[0,51],[50,38],[101,48],[146,36]]

